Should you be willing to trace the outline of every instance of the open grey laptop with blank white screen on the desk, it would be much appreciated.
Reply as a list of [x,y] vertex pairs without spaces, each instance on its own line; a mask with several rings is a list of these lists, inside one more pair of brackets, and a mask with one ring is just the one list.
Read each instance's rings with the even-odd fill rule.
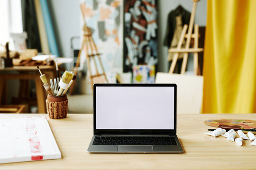
[[94,84],[90,153],[183,153],[176,84]]

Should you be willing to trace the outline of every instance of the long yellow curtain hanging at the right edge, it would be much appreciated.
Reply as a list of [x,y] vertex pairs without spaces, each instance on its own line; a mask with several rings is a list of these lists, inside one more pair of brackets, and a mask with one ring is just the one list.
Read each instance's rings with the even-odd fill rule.
[[202,113],[256,113],[256,0],[208,0]]

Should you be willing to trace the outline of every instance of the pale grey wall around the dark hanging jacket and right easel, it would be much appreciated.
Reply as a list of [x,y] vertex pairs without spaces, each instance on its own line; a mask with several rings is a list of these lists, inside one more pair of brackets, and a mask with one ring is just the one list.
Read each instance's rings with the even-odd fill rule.
[[[159,63],[158,63],[158,71],[160,72],[168,72],[168,61],[167,61],[167,53],[168,48],[163,45],[163,41],[166,35],[167,28],[167,17],[168,14],[177,8],[178,5],[182,5],[187,11],[192,11],[192,0],[158,0],[158,54],[159,54]],[[197,3],[197,10],[195,15],[195,24],[199,26],[206,25],[206,11],[207,11],[207,0],[200,0]],[[192,55],[193,56],[193,55]],[[191,55],[188,58],[187,70],[193,70],[193,57]]]

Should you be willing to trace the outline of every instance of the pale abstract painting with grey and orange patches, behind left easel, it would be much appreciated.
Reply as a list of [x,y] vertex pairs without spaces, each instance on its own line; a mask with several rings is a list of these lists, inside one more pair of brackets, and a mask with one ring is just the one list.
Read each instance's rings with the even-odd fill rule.
[[[84,0],[83,2],[86,24],[92,30],[92,38],[101,53],[101,61],[108,80],[113,83],[116,81],[116,73],[122,72],[123,0]],[[92,75],[93,70],[92,68]]]

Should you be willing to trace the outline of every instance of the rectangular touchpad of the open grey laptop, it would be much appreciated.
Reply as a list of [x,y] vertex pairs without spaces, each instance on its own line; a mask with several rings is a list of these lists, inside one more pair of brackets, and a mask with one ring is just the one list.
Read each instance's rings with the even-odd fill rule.
[[118,152],[153,152],[152,145],[118,145]]

